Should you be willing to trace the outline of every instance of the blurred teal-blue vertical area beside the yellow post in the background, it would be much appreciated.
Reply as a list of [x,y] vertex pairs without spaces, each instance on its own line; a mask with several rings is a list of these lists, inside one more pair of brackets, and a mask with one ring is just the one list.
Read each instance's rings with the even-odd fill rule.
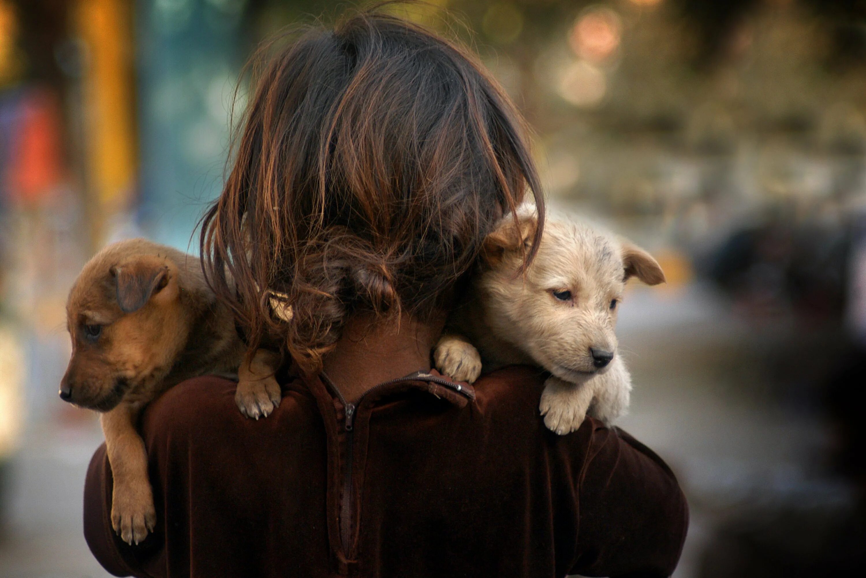
[[229,108],[242,65],[245,0],[138,0],[140,203],[143,233],[195,250],[219,194]]

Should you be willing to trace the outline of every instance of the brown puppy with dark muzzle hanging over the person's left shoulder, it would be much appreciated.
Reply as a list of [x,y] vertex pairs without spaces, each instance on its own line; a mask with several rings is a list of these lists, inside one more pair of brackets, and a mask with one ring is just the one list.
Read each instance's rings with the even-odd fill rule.
[[60,396],[102,412],[114,489],[112,525],[139,543],[156,524],[139,413],[166,389],[194,376],[239,377],[236,403],[258,419],[281,401],[279,356],[246,347],[231,312],[204,281],[199,260],[133,239],[109,245],[84,266],[67,301],[72,358]]

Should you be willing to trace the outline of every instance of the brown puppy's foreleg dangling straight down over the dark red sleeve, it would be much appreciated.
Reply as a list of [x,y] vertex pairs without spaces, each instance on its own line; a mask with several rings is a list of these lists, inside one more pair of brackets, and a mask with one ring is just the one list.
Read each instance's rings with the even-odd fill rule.
[[128,544],[144,540],[157,523],[151,483],[147,478],[145,441],[135,429],[137,415],[137,410],[121,403],[101,418],[114,478],[111,523]]

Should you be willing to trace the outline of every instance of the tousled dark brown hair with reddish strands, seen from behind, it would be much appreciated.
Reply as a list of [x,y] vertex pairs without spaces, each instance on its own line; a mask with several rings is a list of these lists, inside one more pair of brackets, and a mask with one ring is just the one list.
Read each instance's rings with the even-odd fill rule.
[[439,311],[527,187],[543,222],[520,115],[455,44],[360,12],[302,29],[261,69],[201,233],[210,286],[251,346],[278,337],[318,371],[352,314]]

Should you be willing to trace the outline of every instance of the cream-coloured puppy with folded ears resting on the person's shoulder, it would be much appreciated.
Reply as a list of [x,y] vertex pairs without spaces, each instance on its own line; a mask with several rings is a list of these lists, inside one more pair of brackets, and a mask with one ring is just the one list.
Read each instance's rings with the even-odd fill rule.
[[[549,371],[541,395],[545,424],[576,430],[587,412],[610,423],[629,403],[631,377],[617,355],[614,326],[625,281],[664,281],[639,247],[583,222],[549,220],[526,274],[523,255],[536,229],[533,215],[508,217],[485,240],[485,267],[449,318],[436,344],[436,368],[474,382],[481,368],[511,363]],[[475,349],[477,348],[477,349]]]

